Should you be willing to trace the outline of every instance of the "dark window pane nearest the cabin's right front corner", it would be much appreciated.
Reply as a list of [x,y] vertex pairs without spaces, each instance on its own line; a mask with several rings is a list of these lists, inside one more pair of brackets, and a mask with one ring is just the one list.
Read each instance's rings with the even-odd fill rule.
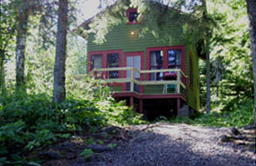
[[181,69],[181,50],[168,50],[168,69]]

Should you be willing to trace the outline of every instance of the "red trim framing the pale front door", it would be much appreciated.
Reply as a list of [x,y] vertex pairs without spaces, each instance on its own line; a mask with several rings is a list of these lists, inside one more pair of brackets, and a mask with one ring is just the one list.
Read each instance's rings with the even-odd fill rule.
[[[145,55],[145,52],[144,51],[139,51],[139,52],[125,52],[124,53],[124,65],[125,67],[127,66],[127,61],[126,61],[126,57],[127,56],[140,56],[140,70],[145,70],[145,63],[144,63],[144,55]],[[126,72],[125,72],[125,77],[126,77]],[[144,80],[144,76],[141,76],[140,77],[140,81],[143,81]],[[123,86],[123,90],[126,90],[126,86],[124,84]],[[144,93],[144,86],[141,86],[141,93]]]

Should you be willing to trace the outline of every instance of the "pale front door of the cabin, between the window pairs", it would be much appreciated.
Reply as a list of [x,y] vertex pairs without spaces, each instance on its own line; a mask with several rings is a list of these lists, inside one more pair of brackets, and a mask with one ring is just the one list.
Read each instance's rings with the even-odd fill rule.
[[[136,68],[137,70],[141,70],[141,57],[143,57],[143,53],[142,52],[134,52],[134,53],[127,53],[125,55],[125,62],[126,62],[126,67],[133,67]],[[140,74],[137,71],[134,71],[133,74],[135,79],[140,80]],[[130,78],[131,77],[131,71],[127,70],[126,71],[126,77]],[[126,83],[126,90],[130,90],[131,88],[131,83]],[[139,85],[134,83],[134,91],[139,93]]]

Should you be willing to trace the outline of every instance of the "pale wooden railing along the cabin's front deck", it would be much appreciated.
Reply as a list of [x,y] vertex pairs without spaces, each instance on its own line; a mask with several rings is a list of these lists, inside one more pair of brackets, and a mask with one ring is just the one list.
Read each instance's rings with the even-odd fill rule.
[[[110,78],[110,72],[117,71],[118,76]],[[175,73],[175,75],[170,80],[166,80],[165,73]],[[186,89],[186,79],[185,73],[180,69],[170,69],[170,70],[138,70],[132,67],[123,68],[104,68],[104,69],[94,69],[91,70],[91,76],[95,76],[100,79],[104,79],[106,83],[130,83],[130,92],[136,92],[134,86],[146,86],[146,85],[164,85],[163,93],[167,93],[168,85],[175,85],[176,90],[174,93],[181,93],[181,87]],[[130,74],[130,76],[129,76]],[[158,74],[160,80],[151,80],[151,75],[154,74],[155,77]]]

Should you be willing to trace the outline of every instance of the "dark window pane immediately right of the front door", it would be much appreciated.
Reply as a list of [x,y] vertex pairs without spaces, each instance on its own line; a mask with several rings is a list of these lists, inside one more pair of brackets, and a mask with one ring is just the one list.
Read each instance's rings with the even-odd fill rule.
[[[163,58],[164,58],[164,51],[163,50],[156,50],[150,52],[150,70],[162,70],[163,69]],[[162,80],[163,73],[152,73],[150,76],[151,80]]]

